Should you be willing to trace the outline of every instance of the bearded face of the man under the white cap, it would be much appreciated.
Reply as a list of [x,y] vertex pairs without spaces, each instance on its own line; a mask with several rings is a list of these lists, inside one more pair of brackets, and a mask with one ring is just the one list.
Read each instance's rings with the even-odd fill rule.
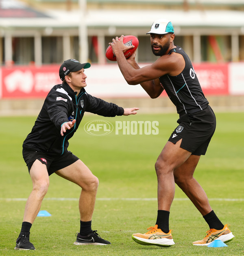
[[163,56],[166,54],[167,50],[170,47],[170,35],[158,35],[158,34],[150,34],[151,36],[151,47],[153,50],[153,54],[156,56]]

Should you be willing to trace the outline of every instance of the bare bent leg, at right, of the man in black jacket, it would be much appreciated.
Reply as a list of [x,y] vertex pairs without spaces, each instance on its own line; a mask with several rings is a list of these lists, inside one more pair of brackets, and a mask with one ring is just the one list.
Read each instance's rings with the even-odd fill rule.
[[81,221],[91,221],[99,183],[98,178],[81,160],[77,160],[55,173],[82,188],[79,199]]

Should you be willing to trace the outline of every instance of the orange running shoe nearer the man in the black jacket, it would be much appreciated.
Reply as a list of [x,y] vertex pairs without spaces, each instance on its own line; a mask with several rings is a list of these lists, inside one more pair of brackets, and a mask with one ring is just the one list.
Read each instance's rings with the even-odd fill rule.
[[133,234],[132,239],[140,245],[157,245],[161,247],[170,247],[174,245],[171,230],[166,234],[161,229],[155,227],[148,228],[145,234]]

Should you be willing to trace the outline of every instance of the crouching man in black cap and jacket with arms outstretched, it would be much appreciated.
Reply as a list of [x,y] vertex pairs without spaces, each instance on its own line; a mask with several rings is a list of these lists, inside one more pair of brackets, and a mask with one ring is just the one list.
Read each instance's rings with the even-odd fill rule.
[[59,77],[63,83],[50,90],[32,131],[24,140],[23,158],[28,166],[33,190],[26,202],[22,229],[15,249],[35,250],[29,241],[30,228],[48,191],[49,176],[52,173],[82,188],[79,199],[80,232],[74,244],[110,244],[91,229],[98,178],[78,157],[68,151],[68,140],[78,129],[84,112],[111,117],[129,116],[136,114],[138,108],[123,109],[87,94],[84,69],[90,66],[90,63],[79,63],[75,59],[63,62],[59,69]]

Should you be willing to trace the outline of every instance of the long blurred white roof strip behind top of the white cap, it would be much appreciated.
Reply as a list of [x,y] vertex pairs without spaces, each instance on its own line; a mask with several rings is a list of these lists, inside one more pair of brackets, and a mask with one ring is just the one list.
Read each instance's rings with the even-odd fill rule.
[[[5,18],[0,17],[1,27],[78,27],[81,13],[75,11],[48,11],[45,18]],[[143,19],[142,19],[143,17]],[[148,27],[157,18],[171,19],[174,26],[180,27],[227,27],[244,28],[243,11],[178,11],[178,10],[88,10],[86,24],[89,27]]]

